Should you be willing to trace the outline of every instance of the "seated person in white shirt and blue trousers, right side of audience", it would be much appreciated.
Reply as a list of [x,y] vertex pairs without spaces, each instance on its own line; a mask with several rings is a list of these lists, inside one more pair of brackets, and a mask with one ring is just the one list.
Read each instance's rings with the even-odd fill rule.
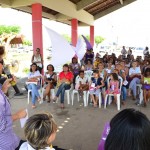
[[133,91],[133,100],[136,99],[136,85],[140,83],[141,78],[141,69],[137,67],[137,62],[132,62],[132,68],[129,69],[129,78],[131,80],[129,84],[129,93],[128,95],[131,96],[131,90]]

